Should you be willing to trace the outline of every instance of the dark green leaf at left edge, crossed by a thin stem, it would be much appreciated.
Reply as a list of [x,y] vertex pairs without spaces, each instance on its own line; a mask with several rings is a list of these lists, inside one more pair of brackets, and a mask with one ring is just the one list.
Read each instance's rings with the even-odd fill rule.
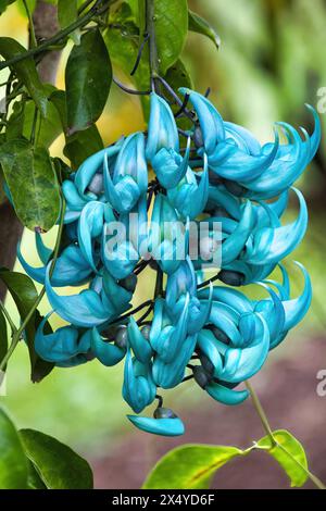
[[[23,273],[10,272],[5,269],[0,269],[0,279],[7,286],[16,304],[21,320],[24,321],[38,297],[33,281]],[[39,312],[36,311],[25,328],[33,382],[40,382],[53,369],[53,364],[40,359],[34,349],[35,331],[40,321],[41,316]]]

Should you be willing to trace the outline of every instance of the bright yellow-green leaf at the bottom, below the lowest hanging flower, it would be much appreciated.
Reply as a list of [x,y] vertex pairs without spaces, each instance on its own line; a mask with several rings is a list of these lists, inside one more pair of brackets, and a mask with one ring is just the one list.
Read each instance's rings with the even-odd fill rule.
[[188,445],[167,452],[147,477],[143,489],[205,489],[214,473],[242,456],[236,447]]

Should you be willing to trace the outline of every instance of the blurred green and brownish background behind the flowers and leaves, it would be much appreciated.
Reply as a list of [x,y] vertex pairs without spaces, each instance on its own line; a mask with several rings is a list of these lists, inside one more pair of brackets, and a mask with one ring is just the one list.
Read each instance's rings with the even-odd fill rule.
[[[286,121],[311,126],[308,102],[315,108],[321,88],[326,87],[326,2],[324,0],[189,0],[190,8],[206,17],[222,38],[217,52],[210,40],[191,34],[184,62],[196,88],[211,87],[211,99],[222,115],[252,129],[264,142],[273,139],[273,123]],[[0,18],[1,36],[27,42],[27,22],[17,4]],[[64,87],[64,52],[58,87]],[[133,63],[130,63],[130,66]],[[125,82],[127,76],[117,76]],[[1,82],[2,76],[1,76]],[[325,91],[324,91],[325,96]],[[325,107],[326,101],[324,101]],[[326,110],[326,109],[325,109]],[[326,112],[321,112],[326,127]],[[98,126],[105,142],[143,127],[136,97],[112,88]],[[51,147],[61,155],[63,139]],[[274,351],[254,378],[274,428],[288,428],[302,440],[311,470],[326,479],[326,397],[318,397],[318,371],[326,370],[325,304],[325,209],[326,145],[298,186],[310,207],[310,230],[292,256],[310,271],[314,298],[305,321]],[[292,204],[290,215],[296,214]],[[47,235],[51,242],[51,233]],[[25,232],[23,252],[37,264],[34,239]],[[287,262],[292,292],[302,289],[300,274]],[[16,265],[16,269],[20,269]],[[151,292],[148,275],[141,281],[136,300]],[[9,307],[14,307],[8,301]],[[45,310],[47,304],[43,304]],[[89,363],[76,369],[55,370],[41,384],[28,381],[27,350],[20,346],[10,362],[8,396],[1,398],[20,426],[54,435],[86,456],[96,473],[97,487],[137,488],[150,466],[166,450],[184,443],[209,443],[248,447],[263,436],[250,402],[226,408],[189,382],[166,392],[166,404],[186,420],[183,438],[150,437],[131,428],[121,397],[122,370]],[[264,453],[223,468],[214,482],[218,488],[285,488],[287,479]],[[310,487],[309,484],[306,487]]]

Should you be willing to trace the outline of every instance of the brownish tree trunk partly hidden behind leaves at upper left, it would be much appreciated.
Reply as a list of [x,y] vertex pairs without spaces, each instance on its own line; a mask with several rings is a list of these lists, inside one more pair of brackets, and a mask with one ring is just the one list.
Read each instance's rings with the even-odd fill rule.
[[[68,1],[68,0],[67,0]],[[59,29],[57,8],[42,0],[37,1],[33,14],[37,40],[47,39]],[[60,52],[47,53],[38,65],[40,79],[50,84],[55,83]],[[23,234],[23,226],[17,220],[13,208],[8,201],[0,204],[0,267],[12,269],[16,259],[16,246]],[[5,296],[5,288],[0,283],[0,300]]]

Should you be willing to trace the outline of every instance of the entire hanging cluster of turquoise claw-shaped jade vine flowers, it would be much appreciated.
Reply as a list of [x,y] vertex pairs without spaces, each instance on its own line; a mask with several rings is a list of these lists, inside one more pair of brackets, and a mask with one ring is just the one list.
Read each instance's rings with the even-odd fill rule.
[[[181,435],[184,424],[163,408],[160,388],[193,378],[222,403],[242,402],[248,391],[236,387],[262,367],[269,350],[306,313],[309,275],[297,263],[303,291],[291,299],[280,261],[306,230],[305,201],[292,185],[321,138],[318,116],[310,107],[311,136],[278,123],[274,142],[261,146],[246,128],[223,121],[206,97],[180,92],[191,104],[191,129],[180,133],[168,103],[152,92],[148,133],[135,133],[91,155],[63,183],[64,242],[53,272],[52,250],[39,234],[42,267],[28,265],[18,250],[28,275],[46,285],[53,311],[68,323],[48,334],[45,324],[53,311],[45,317],[35,339],[39,356],[61,367],[93,359],[112,366],[124,359],[123,397],[134,412],[159,401],[153,417],[129,420],[166,436]],[[299,214],[281,225],[290,194],[299,201]],[[136,223],[130,213],[137,213]],[[124,225],[127,237],[108,248],[112,222]],[[203,282],[204,261],[190,259],[187,236],[183,259],[175,257],[171,233],[162,228],[159,238],[153,236],[151,224],[165,222],[175,225],[176,238],[187,233],[189,222],[220,223],[221,285]],[[209,229],[209,251],[214,250],[212,239]],[[136,321],[128,311],[137,275],[146,266],[155,272],[155,296]],[[280,283],[266,279],[276,266]],[[53,289],[86,284],[76,295]],[[260,286],[264,298],[251,300],[236,289],[247,284]]]

